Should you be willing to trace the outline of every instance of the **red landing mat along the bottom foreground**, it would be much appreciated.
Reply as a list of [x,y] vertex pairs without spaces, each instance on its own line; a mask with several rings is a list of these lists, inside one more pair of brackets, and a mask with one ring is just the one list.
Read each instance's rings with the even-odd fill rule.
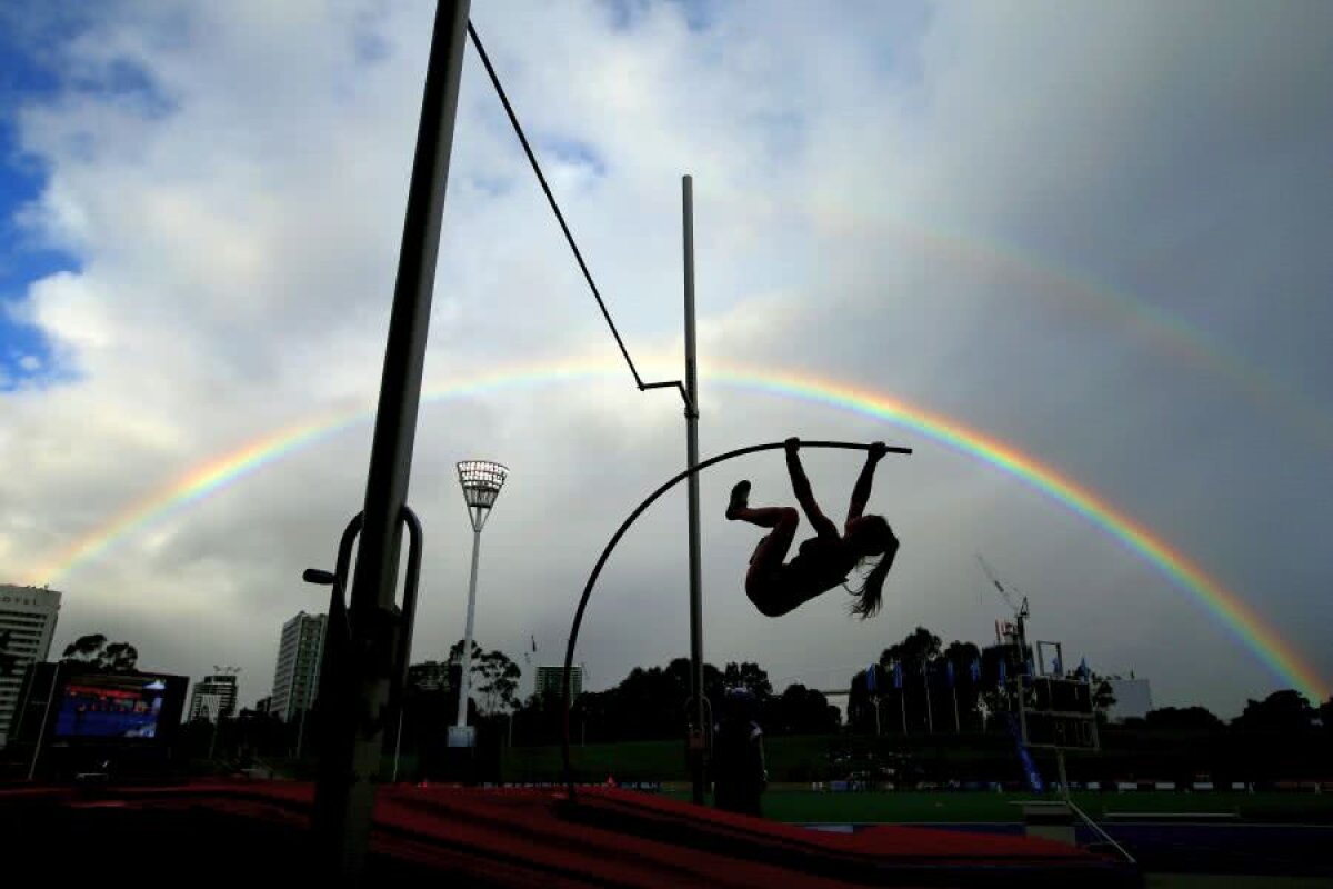
[[[311,785],[285,782],[15,788],[0,790],[0,836],[63,860],[52,873],[113,877],[121,852],[140,862],[139,878],[188,861],[207,861],[213,877],[308,873],[311,800]],[[1141,885],[1132,868],[1058,842],[897,826],[824,833],[612,788],[573,801],[559,789],[381,788],[372,854],[371,874],[465,886]]]

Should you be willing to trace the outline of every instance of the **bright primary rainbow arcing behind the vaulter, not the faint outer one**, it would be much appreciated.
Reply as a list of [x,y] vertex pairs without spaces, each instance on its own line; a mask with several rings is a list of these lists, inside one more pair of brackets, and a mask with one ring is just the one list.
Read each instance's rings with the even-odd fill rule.
[[[463,383],[431,387],[423,393],[423,401],[439,403],[528,385],[581,381],[611,375],[624,376],[625,371],[605,360],[564,360],[511,368]],[[1237,593],[1226,589],[1221,581],[1209,576],[1149,528],[1092,490],[1042,465],[1034,457],[948,417],[849,383],[781,371],[721,365],[700,367],[700,375],[714,384],[798,399],[892,423],[1022,480],[1137,552],[1210,612],[1241,645],[1253,652],[1289,686],[1313,701],[1322,701],[1329,696],[1330,684],[1324,681]],[[236,450],[200,464],[72,541],[31,572],[28,582],[60,582],[149,525],[179,514],[227,485],[372,419],[373,411],[360,407],[324,413],[255,439]]]

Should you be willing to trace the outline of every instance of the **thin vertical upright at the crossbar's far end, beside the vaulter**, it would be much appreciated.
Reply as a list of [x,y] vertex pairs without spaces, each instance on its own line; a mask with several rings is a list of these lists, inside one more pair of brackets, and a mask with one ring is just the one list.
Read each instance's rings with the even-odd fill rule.
[[[681,180],[685,249],[685,449],[686,468],[698,465],[698,375],[694,368],[694,180]],[[704,728],[704,592],[698,545],[698,474],[689,476],[689,685],[694,698],[692,741],[700,744],[706,737]],[[696,750],[693,772],[694,802],[704,802],[704,772],[706,749]]]

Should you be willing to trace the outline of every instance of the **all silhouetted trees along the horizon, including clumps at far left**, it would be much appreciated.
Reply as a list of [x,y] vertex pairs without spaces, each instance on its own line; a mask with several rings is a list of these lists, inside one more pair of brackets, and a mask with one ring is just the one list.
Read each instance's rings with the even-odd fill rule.
[[[451,646],[444,660],[428,660],[409,668],[403,689],[403,738],[400,748],[423,752],[437,744],[457,713],[463,641]],[[61,660],[89,672],[132,673],[137,649],[89,634],[71,642]],[[758,722],[770,736],[784,734],[944,734],[998,732],[993,716],[1002,709],[997,677],[1005,669],[1021,669],[1030,652],[1005,646],[981,649],[974,642],[940,636],[917,626],[845,680],[846,720],[826,696],[804,684],[777,690],[766,670],[754,662],[704,665],[704,693],[720,701],[726,688],[746,688],[758,700]],[[1005,666],[1008,665],[1008,668]],[[571,733],[576,744],[670,740],[684,734],[690,708],[688,658],[665,666],[636,666],[616,685],[583,692],[571,708]],[[1093,702],[1105,714],[1114,704],[1110,680],[1089,672]],[[499,649],[473,642],[468,721],[495,744],[557,744],[563,733],[559,693],[520,694],[523,672]],[[299,726],[253,709],[232,717],[228,733],[233,745],[264,750],[269,756],[309,754]],[[1145,717],[1124,720],[1125,730],[1177,733],[1302,734],[1333,733],[1333,697],[1312,704],[1294,689],[1281,689],[1264,700],[1249,700],[1244,712],[1224,721],[1202,706],[1165,706]],[[207,729],[195,726],[204,737]],[[192,734],[187,732],[187,737]],[[216,745],[216,737],[209,737]]]

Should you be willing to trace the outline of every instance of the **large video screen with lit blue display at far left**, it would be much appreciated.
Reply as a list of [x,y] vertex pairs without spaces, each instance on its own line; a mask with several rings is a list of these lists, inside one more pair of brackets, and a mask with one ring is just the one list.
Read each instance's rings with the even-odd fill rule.
[[167,696],[161,676],[72,676],[61,689],[56,737],[153,740]]

